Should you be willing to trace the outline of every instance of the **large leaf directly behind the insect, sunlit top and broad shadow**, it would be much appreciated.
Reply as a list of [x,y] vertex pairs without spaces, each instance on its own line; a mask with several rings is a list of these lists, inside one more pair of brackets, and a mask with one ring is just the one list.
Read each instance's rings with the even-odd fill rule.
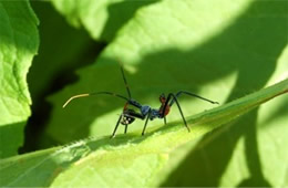
[[[187,9],[189,3],[192,10]],[[123,105],[116,98],[85,98],[65,111],[61,105],[82,92],[125,92],[119,65],[107,63],[115,62],[111,60],[114,56],[133,64],[126,73],[133,97],[153,106],[158,106],[162,92],[187,90],[223,103],[261,88],[287,44],[282,7],[281,2],[249,4],[249,1],[219,0],[215,4],[162,1],[141,9],[97,60],[100,64],[80,70],[80,81],[52,97],[55,108],[47,135],[66,143],[89,135],[111,134]],[[274,17],[263,17],[270,12]],[[182,21],[174,15],[182,15]],[[254,32],[248,32],[250,28]],[[270,38],[271,33],[277,35]],[[259,34],[259,40],[254,40]],[[263,66],[263,72],[255,75],[258,66]],[[237,85],[235,91],[234,85]],[[188,114],[210,107],[200,101],[185,101],[182,106]],[[168,118],[178,118],[177,112]],[[104,122],[105,127],[99,126]],[[140,125],[131,128],[141,128]]]

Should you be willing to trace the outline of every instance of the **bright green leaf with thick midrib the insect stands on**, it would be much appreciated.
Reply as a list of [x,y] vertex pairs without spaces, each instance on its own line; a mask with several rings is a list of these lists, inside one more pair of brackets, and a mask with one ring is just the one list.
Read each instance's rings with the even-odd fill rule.
[[[151,132],[144,137],[90,138],[0,161],[1,186],[157,186],[171,153],[288,92],[288,80],[223,106]],[[155,144],[156,143],[156,144]],[[168,165],[168,164],[167,164]],[[39,173],[45,171],[45,173]],[[123,176],[125,175],[125,176]],[[163,175],[162,175],[163,176]]]

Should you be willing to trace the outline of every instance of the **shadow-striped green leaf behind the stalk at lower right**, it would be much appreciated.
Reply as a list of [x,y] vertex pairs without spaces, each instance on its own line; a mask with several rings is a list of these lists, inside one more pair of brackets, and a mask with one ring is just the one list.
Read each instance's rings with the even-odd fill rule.
[[[288,48],[267,85],[287,77]],[[255,70],[255,75],[257,71]],[[255,76],[257,77],[257,76]],[[247,86],[249,81],[246,82]],[[205,135],[197,147],[173,152],[162,186],[285,187],[287,185],[288,96],[277,97],[238,121]],[[174,164],[172,167],[171,164]],[[188,171],[188,173],[186,173]]]

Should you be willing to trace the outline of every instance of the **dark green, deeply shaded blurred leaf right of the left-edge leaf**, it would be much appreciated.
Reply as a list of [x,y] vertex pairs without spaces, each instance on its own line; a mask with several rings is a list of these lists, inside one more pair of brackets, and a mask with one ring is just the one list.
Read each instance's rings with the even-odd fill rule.
[[71,75],[68,72],[71,67],[84,65],[83,54],[86,54],[92,41],[84,31],[69,27],[50,2],[32,1],[31,4],[41,20],[39,55],[28,75],[31,96],[38,103],[59,74]]

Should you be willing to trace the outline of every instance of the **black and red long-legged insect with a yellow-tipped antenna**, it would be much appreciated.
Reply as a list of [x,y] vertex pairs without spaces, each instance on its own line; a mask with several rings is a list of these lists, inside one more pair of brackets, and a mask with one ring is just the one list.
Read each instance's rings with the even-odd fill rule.
[[[167,96],[165,96],[165,94],[162,93],[160,95],[160,102],[161,102],[160,108],[153,108],[150,105],[142,105],[141,103],[138,103],[137,101],[132,98],[130,87],[128,87],[128,84],[127,84],[127,81],[126,81],[126,77],[125,77],[125,74],[124,74],[124,70],[123,70],[121,64],[120,64],[120,70],[121,70],[121,74],[122,74],[128,97],[116,94],[116,93],[112,93],[112,92],[84,93],[84,94],[79,94],[79,95],[74,95],[74,96],[70,97],[64,103],[63,107],[65,107],[74,98],[92,96],[92,95],[104,94],[104,95],[112,95],[112,96],[124,100],[126,103],[125,103],[123,111],[122,111],[122,113],[121,113],[121,115],[117,119],[115,128],[114,128],[114,130],[111,135],[111,138],[113,138],[113,137],[115,137],[115,134],[116,134],[116,130],[117,130],[120,124],[125,126],[124,134],[126,134],[127,133],[127,126],[130,124],[132,124],[136,118],[145,121],[145,124],[144,124],[144,127],[143,127],[143,130],[142,130],[142,135],[145,134],[145,129],[146,129],[148,121],[153,121],[155,118],[163,118],[164,124],[166,125],[166,116],[168,115],[169,109],[173,106],[173,104],[177,105],[179,114],[181,114],[182,119],[183,119],[183,123],[184,123],[185,127],[187,128],[187,130],[191,132],[191,129],[187,125],[187,122],[186,122],[186,119],[183,115],[181,105],[177,101],[177,98],[183,94],[204,100],[204,101],[209,102],[212,104],[218,104],[218,102],[213,102],[213,101],[207,100],[205,97],[202,97],[199,95],[196,95],[196,94],[193,94],[193,93],[189,93],[189,92],[186,92],[186,91],[179,91],[176,94],[169,93]],[[138,112],[134,111],[131,106],[134,106],[134,108],[138,109]]]

